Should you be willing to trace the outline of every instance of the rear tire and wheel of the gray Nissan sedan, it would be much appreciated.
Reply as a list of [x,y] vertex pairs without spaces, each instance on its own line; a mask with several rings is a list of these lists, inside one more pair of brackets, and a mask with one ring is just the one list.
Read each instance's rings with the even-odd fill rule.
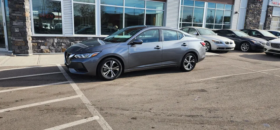
[[197,59],[195,55],[193,53],[188,53],[183,57],[180,69],[184,72],[192,71],[195,68],[196,62]]

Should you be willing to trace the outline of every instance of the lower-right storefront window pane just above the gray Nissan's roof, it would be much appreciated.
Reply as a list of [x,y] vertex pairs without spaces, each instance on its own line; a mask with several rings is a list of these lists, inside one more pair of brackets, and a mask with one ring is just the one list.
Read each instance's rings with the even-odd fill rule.
[[163,11],[146,10],[146,25],[163,26]]

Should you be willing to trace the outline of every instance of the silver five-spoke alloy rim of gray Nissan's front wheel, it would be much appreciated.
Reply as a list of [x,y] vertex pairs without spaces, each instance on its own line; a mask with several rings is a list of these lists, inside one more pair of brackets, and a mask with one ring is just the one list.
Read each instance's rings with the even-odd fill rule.
[[119,72],[119,65],[115,61],[108,61],[102,67],[102,73],[108,78],[115,77]]

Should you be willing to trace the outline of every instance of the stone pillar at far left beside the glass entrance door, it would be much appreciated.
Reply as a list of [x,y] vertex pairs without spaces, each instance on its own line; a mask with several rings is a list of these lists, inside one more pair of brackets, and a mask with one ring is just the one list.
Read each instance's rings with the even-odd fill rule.
[[8,0],[11,43],[14,54],[31,55],[29,0]]

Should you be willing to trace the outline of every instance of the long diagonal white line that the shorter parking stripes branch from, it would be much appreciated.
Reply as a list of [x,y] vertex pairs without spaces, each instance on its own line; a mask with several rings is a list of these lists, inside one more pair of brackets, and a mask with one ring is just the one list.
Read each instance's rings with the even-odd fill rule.
[[100,119],[97,119],[97,122],[99,123],[99,125],[102,127],[102,129],[104,130],[113,130],[110,125],[106,122],[106,120],[102,117],[102,115],[95,109],[95,107],[90,103],[90,101],[88,100],[88,98],[85,97],[85,95],[83,94],[83,92],[79,89],[79,87],[75,84],[75,82],[71,79],[71,77],[66,73],[66,71],[64,71],[64,69],[62,68],[62,66],[60,64],[57,65],[57,67],[60,69],[60,71],[62,72],[62,74],[64,75],[64,77],[70,82],[71,86],[73,87],[73,89],[76,91],[76,93],[78,95],[83,95],[81,98],[81,100],[83,101],[83,103],[85,104],[85,106],[88,108],[88,110],[92,113],[92,115],[98,115],[100,117]]

